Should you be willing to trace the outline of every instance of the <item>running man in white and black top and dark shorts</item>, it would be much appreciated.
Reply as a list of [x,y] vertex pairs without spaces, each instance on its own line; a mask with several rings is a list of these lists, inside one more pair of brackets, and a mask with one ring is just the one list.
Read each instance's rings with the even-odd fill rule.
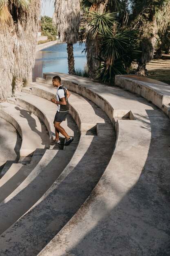
[[60,76],[53,77],[53,86],[57,87],[56,99],[51,98],[51,101],[58,105],[57,112],[54,118],[54,127],[55,127],[55,143],[60,143],[59,139],[59,132],[66,137],[66,143],[64,146],[68,146],[72,141],[73,138],[70,137],[64,128],[60,126],[61,122],[66,120],[66,115],[69,112],[70,106],[68,103],[68,98],[70,97],[70,92],[61,84]]

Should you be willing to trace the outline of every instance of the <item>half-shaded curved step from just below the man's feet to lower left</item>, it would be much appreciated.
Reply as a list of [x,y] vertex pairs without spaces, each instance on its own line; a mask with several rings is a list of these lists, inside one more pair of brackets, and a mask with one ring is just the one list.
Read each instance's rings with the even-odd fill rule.
[[46,193],[69,163],[72,155],[72,149],[66,151],[46,150],[33,171],[0,203],[0,234],[26,213]]

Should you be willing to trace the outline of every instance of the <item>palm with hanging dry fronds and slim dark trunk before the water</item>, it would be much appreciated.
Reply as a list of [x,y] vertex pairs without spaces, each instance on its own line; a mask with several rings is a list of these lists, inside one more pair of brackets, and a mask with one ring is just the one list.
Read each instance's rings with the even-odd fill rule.
[[73,44],[79,40],[81,0],[55,0],[53,23],[62,43],[67,43],[68,73],[75,74]]

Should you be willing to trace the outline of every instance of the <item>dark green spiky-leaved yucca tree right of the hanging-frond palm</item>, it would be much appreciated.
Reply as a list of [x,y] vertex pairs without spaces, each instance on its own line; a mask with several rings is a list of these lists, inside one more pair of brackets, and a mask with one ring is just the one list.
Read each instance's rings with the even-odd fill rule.
[[89,25],[98,34],[100,53],[97,79],[112,83],[116,74],[126,74],[132,61],[137,59],[135,30],[122,29],[116,16],[110,12],[91,12]]

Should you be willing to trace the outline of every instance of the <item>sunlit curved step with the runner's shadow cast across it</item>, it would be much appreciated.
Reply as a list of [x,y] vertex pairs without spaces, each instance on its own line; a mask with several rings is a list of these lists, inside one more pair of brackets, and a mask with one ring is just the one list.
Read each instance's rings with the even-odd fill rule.
[[0,109],[0,117],[12,124],[22,137],[20,156],[30,155],[36,148],[49,147],[49,137],[38,117],[11,103],[1,105],[3,108]]

